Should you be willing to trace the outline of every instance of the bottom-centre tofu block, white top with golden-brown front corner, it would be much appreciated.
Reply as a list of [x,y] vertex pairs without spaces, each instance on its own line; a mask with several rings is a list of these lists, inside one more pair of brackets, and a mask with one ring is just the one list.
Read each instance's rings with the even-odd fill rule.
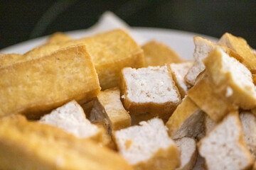
[[180,152],[159,118],[114,132],[119,154],[137,170],[169,170],[180,165]]

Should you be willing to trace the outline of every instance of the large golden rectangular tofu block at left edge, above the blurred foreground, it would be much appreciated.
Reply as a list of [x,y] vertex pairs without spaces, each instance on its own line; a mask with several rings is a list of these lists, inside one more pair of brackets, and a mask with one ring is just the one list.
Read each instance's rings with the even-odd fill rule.
[[84,45],[0,68],[0,117],[23,113],[38,118],[75,99],[85,103],[97,96],[100,84]]

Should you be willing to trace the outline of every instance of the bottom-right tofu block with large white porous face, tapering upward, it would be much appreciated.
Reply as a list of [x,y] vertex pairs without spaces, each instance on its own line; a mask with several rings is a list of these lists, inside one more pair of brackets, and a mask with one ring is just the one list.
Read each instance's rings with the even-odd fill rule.
[[238,112],[229,113],[200,140],[198,152],[206,159],[208,170],[250,169],[253,159],[242,137]]

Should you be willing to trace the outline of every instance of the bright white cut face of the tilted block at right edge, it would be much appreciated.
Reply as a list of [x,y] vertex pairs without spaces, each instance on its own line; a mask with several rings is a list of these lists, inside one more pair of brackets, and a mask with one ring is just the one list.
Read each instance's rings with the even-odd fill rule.
[[238,60],[223,52],[223,50],[219,50],[222,54],[223,72],[230,72],[233,81],[235,81],[241,89],[250,91],[250,94],[256,98],[255,85],[253,84],[250,70],[238,62]]

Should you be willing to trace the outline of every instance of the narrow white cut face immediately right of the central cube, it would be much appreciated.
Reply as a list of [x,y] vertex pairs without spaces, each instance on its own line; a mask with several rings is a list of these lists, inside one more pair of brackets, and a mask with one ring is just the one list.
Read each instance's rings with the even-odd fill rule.
[[193,62],[173,63],[170,64],[171,71],[175,74],[178,84],[181,86],[183,91],[188,91],[190,85],[185,81],[185,76],[188,70],[193,66]]

